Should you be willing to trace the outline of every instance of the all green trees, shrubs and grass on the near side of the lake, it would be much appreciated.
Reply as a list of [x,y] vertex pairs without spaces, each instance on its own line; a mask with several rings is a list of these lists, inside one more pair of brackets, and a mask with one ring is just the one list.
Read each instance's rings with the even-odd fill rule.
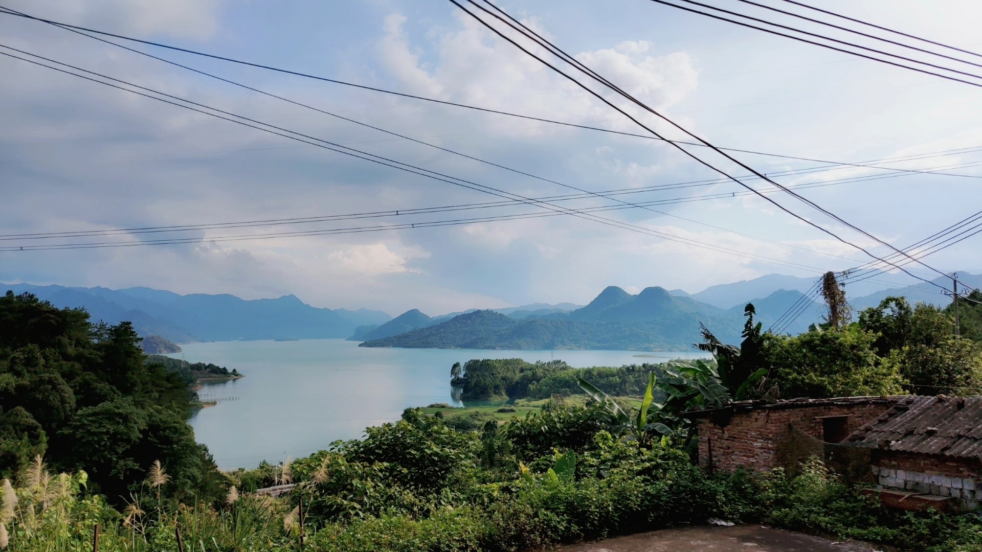
[[[448,379],[476,406],[407,409],[363,439],[221,471],[187,423],[193,371],[147,361],[129,323],[93,324],[82,309],[8,293],[0,549],[91,550],[98,527],[103,552],[517,552],[717,518],[902,550],[982,550],[976,513],[889,509],[820,458],[759,474],[698,468],[685,412],[982,385],[979,345],[953,334],[949,311],[890,298],[853,321],[836,301],[825,324],[796,336],[762,332],[748,305],[738,345],[702,329],[706,360],[471,359]],[[282,494],[262,490],[276,485]]]

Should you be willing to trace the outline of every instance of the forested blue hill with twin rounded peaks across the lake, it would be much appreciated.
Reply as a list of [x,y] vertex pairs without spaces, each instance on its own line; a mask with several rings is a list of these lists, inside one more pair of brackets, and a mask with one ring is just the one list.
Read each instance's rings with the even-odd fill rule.
[[[769,326],[800,297],[800,292],[780,290],[754,300],[759,304],[758,320]],[[793,329],[800,326],[803,330],[818,321],[819,315],[818,305],[812,304]],[[369,340],[361,347],[686,351],[700,341],[700,322],[724,341],[739,341],[743,305],[724,310],[674,297],[663,288],[646,288],[630,295],[611,286],[590,304],[569,313],[515,319],[493,310],[477,310],[440,324]]]

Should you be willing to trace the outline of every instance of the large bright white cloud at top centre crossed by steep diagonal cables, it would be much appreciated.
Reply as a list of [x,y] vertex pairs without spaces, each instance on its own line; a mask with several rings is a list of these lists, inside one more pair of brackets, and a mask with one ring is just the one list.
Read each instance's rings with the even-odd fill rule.
[[[464,14],[457,16],[460,28],[429,33],[435,41],[435,61],[425,67],[419,52],[409,45],[404,29],[407,18],[401,14],[386,17],[378,52],[392,76],[414,92],[482,107],[573,122],[620,118],[609,106],[511,43]],[[522,22],[549,36],[534,18]],[[582,52],[576,58],[613,77],[616,83],[625,84],[640,99],[663,108],[682,101],[695,90],[698,72],[687,53],[659,56],[655,49],[646,41],[622,42],[613,48]],[[503,124],[500,117],[487,120],[499,127]],[[547,128],[553,133],[570,132]],[[536,128],[524,135],[540,136],[543,132]]]

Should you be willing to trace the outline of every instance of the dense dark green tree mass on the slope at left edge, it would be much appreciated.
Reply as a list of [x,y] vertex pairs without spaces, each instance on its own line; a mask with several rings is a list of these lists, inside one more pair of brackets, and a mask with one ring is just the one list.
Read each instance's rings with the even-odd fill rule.
[[122,501],[159,460],[165,489],[211,496],[218,470],[186,418],[196,397],[159,362],[146,362],[128,322],[92,324],[30,294],[0,297],[0,475],[37,455],[84,470],[90,492]]

